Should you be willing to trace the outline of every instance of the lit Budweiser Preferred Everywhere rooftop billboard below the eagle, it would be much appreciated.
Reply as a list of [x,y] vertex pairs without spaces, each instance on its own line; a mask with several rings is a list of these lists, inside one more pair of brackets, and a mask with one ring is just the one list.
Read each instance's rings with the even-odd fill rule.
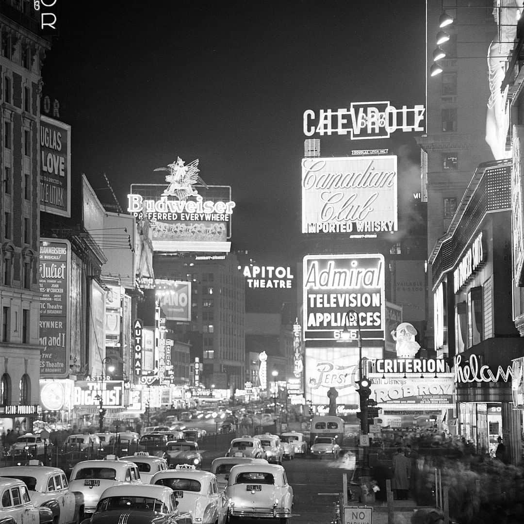
[[165,184],[131,184],[127,211],[150,221],[155,251],[228,253],[235,208],[231,186],[193,188],[194,195],[179,200],[164,194]]

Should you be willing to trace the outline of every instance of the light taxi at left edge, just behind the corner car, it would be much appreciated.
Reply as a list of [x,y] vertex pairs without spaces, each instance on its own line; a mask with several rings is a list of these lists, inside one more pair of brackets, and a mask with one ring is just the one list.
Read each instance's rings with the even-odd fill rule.
[[83,517],[84,497],[81,493],[71,491],[65,473],[58,467],[2,467],[0,477],[16,478],[23,482],[35,507],[51,509],[53,524],[78,522]]

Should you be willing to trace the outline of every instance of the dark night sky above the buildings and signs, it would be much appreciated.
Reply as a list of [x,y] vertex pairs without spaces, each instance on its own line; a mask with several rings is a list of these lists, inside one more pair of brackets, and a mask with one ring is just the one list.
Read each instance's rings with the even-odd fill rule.
[[[304,110],[424,104],[423,0],[60,4],[43,94],[72,125],[73,183],[85,173],[114,203],[105,172],[125,210],[130,183],[199,158],[232,186],[234,248],[286,255],[300,237]],[[389,147],[416,160],[413,145],[397,132]],[[377,146],[322,138],[326,156]]]

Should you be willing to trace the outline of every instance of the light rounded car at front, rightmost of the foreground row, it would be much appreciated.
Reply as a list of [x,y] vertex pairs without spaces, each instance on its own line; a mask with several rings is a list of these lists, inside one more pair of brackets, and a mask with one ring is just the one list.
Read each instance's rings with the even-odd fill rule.
[[231,468],[225,496],[231,518],[280,519],[287,524],[293,507],[293,488],[276,464],[239,464]]

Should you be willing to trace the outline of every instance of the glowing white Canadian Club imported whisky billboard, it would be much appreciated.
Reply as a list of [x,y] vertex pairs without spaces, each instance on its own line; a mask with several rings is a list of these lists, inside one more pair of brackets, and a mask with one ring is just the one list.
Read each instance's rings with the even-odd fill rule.
[[398,231],[397,157],[302,159],[302,233]]

